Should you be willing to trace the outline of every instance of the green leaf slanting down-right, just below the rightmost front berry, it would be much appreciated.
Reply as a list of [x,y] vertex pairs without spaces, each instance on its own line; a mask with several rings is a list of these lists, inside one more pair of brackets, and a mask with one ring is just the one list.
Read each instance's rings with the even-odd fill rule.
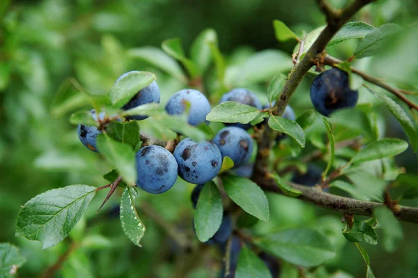
[[226,194],[234,203],[250,215],[268,222],[268,199],[258,185],[238,176],[223,176],[222,183]]

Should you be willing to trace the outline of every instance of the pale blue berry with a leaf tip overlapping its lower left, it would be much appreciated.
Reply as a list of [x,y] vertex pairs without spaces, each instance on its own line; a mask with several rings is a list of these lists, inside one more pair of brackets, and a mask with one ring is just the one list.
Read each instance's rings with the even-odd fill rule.
[[185,111],[187,102],[190,104],[187,122],[190,125],[208,123],[206,115],[210,112],[210,103],[206,96],[197,90],[185,89],[178,91],[171,96],[165,109],[170,115],[180,115]]

